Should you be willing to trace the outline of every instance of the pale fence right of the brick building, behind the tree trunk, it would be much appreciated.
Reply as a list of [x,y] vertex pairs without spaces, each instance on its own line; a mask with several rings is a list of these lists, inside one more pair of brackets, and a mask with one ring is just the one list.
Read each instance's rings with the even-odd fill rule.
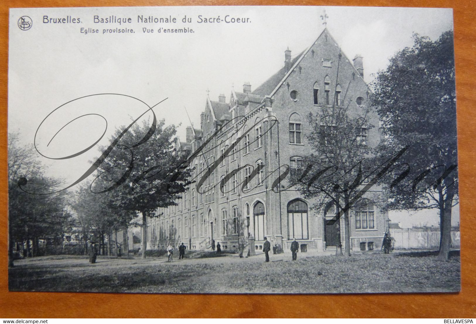
[[[396,249],[438,248],[440,246],[440,230],[438,229],[390,229]],[[459,230],[451,231],[451,246],[459,247]]]

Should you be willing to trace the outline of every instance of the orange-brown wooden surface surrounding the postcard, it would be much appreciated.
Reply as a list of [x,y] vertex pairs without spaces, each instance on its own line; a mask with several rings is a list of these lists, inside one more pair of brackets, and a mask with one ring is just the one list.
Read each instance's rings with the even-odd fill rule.
[[[459,294],[91,294],[8,291],[7,67],[8,13],[15,7],[172,5],[325,5],[454,9],[461,293]],[[449,0],[3,0],[0,19],[0,318],[63,317],[476,317],[476,10],[475,1]],[[475,199],[476,201],[476,199]],[[473,238],[474,237],[474,238]],[[181,305],[166,307],[166,305]],[[118,305],[122,305],[118,307]],[[129,305],[126,307],[125,305]]]

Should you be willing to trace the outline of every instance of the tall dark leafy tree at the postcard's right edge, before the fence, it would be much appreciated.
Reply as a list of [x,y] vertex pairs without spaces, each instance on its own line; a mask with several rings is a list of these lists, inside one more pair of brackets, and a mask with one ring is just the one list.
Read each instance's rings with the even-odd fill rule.
[[373,83],[386,135],[382,156],[408,146],[405,159],[386,178],[389,209],[436,208],[440,253],[447,260],[451,210],[458,202],[456,89],[453,31],[436,41],[413,35],[414,45],[390,59]]

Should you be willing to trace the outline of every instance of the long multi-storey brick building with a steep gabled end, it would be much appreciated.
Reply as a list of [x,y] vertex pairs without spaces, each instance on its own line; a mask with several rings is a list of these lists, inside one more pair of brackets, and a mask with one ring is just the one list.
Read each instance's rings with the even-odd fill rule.
[[[177,247],[184,242],[190,249],[209,249],[215,240],[224,250],[236,250],[241,239],[253,253],[261,251],[267,236],[272,245],[285,249],[295,237],[307,248],[322,251],[336,248],[339,232],[345,244],[344,222],[340,229],[337,222],[329,222],[334,216],[332,203],[324,212],[311,210],[312,202],[296,189],[276,191],[273,182],[281,173],[280,165],[288,164],[292,170],[311,153],[307,143],[309,112],[321,105],[338,106],[345,95],[352,101],[348,113],[358,115],[367,107],[369,91],[362,57],[356,55],[349,61],[341,55],[325,28],[296,57],[286,50],[284,67],[255,90],[249,83],[243,85],[242,92],[232,88],[228,102],[224,94],[218,101],[207,96],[200,129],[188,127],[186,142],[177,141],[176,147],[192,154],[218,132],[191,163],[197,182],[207,172],[209,176],[198,191],[195,183],[177,206],[159,208],[160,216],[149,219],[148,248],[164,249],[169,242]],[[376,111],[371,110],[369,120],[377,127],[360,136],[367,145],[376,146],[380,141]],[[283,180],[284,187],[287,181]],[[388,215],[371,199],[381,194],[379,188],[366,192],[364,197],[370,199],[361,204],[365,210],[351,212],[352,249],[380,247]]]

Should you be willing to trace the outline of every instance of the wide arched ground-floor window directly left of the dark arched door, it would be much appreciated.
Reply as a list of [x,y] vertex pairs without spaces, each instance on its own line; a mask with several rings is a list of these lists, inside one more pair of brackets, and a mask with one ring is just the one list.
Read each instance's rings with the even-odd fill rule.
[[295,199],[288,203],[288,239],[307,240],[307,203]]

